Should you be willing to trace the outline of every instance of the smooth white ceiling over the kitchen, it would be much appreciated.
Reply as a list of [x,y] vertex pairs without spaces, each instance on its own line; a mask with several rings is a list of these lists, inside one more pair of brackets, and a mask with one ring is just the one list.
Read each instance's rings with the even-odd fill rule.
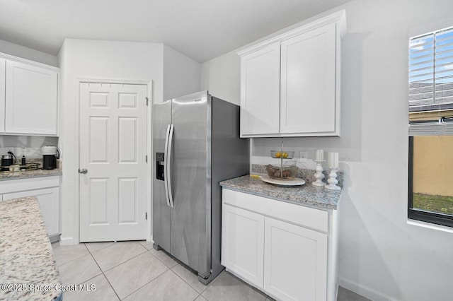
[[350,0],[0,0],[0,40],[159,42],[200,63]]

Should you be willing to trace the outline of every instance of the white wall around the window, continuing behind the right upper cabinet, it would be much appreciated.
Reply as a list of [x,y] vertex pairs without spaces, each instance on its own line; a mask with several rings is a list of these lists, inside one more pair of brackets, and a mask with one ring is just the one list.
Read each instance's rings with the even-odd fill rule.
[[[453,2],[355,0],[333,11],[340,8],[348,23],[341,137],[285,138],[285,145],[312,157],[314,148],[340,153],[340,285],[372,300],[452,300],[453,233],[408,225],[406,212],[408,32],[440,20],[453,25]],[[233,61],[229,53],[202,65],[207,89],[222,85],[239,98]],[[252,161],[277,146],[280,138],[254,139]]]

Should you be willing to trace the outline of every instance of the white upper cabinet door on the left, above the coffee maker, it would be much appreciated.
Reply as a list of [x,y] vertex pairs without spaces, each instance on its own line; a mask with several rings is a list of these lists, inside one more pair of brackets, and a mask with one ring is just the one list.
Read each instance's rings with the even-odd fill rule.
[[5,131],[57,135],[58,73],[6,61]]

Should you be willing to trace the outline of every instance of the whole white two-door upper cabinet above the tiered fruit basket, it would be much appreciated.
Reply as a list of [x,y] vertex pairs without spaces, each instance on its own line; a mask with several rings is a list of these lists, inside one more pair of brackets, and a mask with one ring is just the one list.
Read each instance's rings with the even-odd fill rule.
[[340,136],[344,34],[340,11],[239,52],[241,136]]

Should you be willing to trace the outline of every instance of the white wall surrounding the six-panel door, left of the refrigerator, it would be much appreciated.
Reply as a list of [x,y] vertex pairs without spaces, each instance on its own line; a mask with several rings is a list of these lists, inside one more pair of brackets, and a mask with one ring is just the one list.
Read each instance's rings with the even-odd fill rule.
[[62,177],[62,244],[79,242],[79,100],[76,79],[153,81],[154,101],[163,95],[163,45],[140,42],[64,40],[59,53],[62,69],[60,141]]

